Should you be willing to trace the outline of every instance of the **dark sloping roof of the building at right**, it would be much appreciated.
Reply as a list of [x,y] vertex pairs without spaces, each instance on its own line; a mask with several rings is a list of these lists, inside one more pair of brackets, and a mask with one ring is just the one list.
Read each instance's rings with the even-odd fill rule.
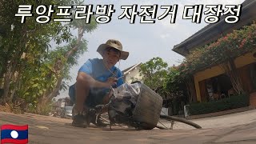
[[198,30],[198,32],[187,38],[185,41],[175,45],[173,50],[178,54],[186,56],[186,54],[189,54],[191,49],[214,42],[218,38],[221,38],[223,34],[228,34],[232,30],[239,29],[242,26],[250,24],[250,22],[256,19],[255,9],[256,1],[246,0],[245,2],[242,2],[242,11],[239,22],[234,24],[226,23],[224,21],[225,15],[222,15],[219,22],[209,24],[201,30]]

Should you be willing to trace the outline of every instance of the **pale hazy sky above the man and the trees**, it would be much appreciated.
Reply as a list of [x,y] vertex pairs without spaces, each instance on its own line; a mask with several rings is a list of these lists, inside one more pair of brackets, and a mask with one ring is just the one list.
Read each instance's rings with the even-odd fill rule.
[[[88,58],[102,58],[98,52],[96,52],[99,45],[105,43],[108,39],[117,39],[122,42],[123,50],[129,51],[130,55],[126,61],[121,61],[116,66],[120,70],[124,70],[127,67],[133,66],[138,62],[147,62],[151,58],[160,57],[164,62],[167,62],[169,66],[178,65],[182,62],[183,57],[180,54],[175,53],[172,49],[175,45],[186,40],[191,35],[201,30],[207,25],[204,22],[205,14],[202,14],[201,23],[192,22],[191,19],[182,19],[184,6],[204,5],[203,12],[206,9],[206,5],[237,5],[244,2],[244,0],[137,0],[137,1],[125,1],[125,0],[86,0],[86,4],[93,4],[94,9],[96,5],[114,5],[116,10],[112,16],[111,21],[106,24],[98,24],[98,28],[90,34],[84,34],[84,37],[88,42],[88,51],[78,59],[78,66],[73,66],[70,69],[70,76],[72,80],[67,82],[69,85],[74,84],[75,78],[78,74],[79,68]],[[157,18],[155,23],[140,23],[138,15],[135,16],[134,24],[130,24],[128,18],[118,19],[123,13],[121,6],[138,5],[137,11],[140,12],[140,6],[153,6],[158,5]],[[164,9],[160,6],[173,6],[178,5],[176,12],[176,21],[170,23],[171,15],[166,16],[162,20],[158,20],[158,16],[164,13]],[[193,10],[189,11],[189,15],[193,13]],[[150,17],[146,17],[150,19]],[[68,91],[62,91],[57,98],[68,97]]]

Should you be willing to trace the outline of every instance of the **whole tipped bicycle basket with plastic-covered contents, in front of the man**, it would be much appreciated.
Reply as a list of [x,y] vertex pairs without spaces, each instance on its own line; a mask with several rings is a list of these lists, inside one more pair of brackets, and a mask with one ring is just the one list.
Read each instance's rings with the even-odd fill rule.
[[162,110],[162,97],[142,82],[125,83],[114,90],[110,101],[111,123],[125,123],[138,129],[153,129]]

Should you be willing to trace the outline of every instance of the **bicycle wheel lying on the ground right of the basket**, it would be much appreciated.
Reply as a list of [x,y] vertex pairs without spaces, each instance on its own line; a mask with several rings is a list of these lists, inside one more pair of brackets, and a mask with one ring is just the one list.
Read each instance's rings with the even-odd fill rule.
[[[201,126],[199,126],[198,124],[194,123],[194,122],[190,122],[188,120],[186,120],[185,118],[178,118],[178,117],[174,117],[174,116],[168,116],[168,115],[163,115],[163,114],[160,114],[160,118],[166,120],[166,121],[172,121],[171,123],[171,129],[172,129],[172,126],[174,125],[174,122],[182,122],[186,125],[189,125],[189,126],[193,126],[194,128],[196,129],[202,129]],[[165,126],[164,124],[162,124],[163,126],[157,126],[159,129],[168,129],[167,126]]]

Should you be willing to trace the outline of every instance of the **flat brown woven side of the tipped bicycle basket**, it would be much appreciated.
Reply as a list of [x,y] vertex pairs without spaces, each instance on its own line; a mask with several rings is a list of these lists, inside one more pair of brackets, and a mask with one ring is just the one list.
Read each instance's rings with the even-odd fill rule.
[[134,107],[133,116],[135,121],[141,123],[140,128],[151,130],[158,124],[162,110],[162,97],[142,82],[140,83],[142,84],[141,92]]

